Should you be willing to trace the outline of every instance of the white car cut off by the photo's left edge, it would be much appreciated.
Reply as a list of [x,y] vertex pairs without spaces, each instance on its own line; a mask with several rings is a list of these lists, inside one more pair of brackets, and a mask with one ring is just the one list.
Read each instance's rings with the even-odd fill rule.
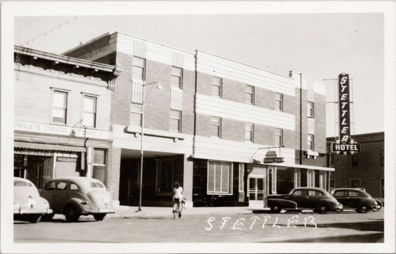
[[14,219],[36,223],[49,213],[52,213],[49,203],[40,197],[36,186],[27,179],[14,177]]

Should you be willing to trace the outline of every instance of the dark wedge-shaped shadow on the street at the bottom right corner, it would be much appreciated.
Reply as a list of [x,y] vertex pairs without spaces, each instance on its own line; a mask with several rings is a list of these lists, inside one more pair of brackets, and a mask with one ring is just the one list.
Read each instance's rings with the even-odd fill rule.
[[318,237],[309,239],[294,239],[287,241],[274,241],[266,243],[383,243],[384,233],[373,233],[365,235],[347,235]]

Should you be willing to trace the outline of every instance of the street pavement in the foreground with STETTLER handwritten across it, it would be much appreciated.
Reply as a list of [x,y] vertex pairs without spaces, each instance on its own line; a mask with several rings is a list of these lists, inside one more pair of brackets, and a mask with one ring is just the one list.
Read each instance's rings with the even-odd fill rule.
[[121,207],[103,221],[92,215],[67,223],[63,215],[37,224],[14,221],[15,243],[381,243],[384,210],[357,213],[269,213],[249,208]]

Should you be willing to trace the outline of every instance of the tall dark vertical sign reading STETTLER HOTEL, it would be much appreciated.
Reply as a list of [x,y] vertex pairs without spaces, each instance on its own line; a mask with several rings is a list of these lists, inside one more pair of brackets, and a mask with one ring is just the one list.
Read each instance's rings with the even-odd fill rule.
[[338,110],[340,135],[337,142],[332,143],[332,152],[337,154],[357,153],[360,145],[350,138],[350,92],[347,73],[338,76]]

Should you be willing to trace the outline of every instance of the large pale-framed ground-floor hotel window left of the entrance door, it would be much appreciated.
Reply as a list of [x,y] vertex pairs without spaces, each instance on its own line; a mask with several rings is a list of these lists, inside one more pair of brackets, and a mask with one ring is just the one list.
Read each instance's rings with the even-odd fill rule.
[[228,162],[208,162],[207,193],[231,193],[232,164]]

